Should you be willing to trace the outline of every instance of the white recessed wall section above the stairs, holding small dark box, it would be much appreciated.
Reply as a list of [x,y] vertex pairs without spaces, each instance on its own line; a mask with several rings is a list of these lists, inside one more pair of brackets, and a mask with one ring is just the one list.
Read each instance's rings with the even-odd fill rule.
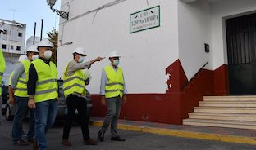
[[[205,63],[213,68],[210,40],[210,4],[205,0],[185,3],[178,1],[179,58],[185,74],[190,79]],[[204,51],[204,43],[210,45],[210,53]]]

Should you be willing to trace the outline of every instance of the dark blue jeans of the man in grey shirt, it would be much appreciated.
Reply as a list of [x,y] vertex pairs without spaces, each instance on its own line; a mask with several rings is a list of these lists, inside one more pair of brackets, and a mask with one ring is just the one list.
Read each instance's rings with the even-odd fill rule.
[[27,133],[27,139],[31,139],[34,137],[34,111],[28,107],[29,98],[16,96],[15,100],[16,113],[12,124],[12,139],[13,141],[21,139],[23,134],[22,121],[25,118],[28,111],[30,111],[30,122],[29,131]]

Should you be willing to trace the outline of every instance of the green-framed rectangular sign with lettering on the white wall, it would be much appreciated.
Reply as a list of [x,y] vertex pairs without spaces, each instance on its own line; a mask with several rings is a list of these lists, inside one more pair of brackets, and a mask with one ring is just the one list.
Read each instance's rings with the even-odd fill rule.
[[160,27],[160,6],[130,14],[130,33]]

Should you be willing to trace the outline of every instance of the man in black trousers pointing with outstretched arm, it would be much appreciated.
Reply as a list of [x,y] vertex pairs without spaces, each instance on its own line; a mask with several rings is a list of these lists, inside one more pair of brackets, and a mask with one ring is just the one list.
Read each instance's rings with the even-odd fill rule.
[[62,144],[65,146],[71,146],[68,138],[73,119],[75,118],[75,110],[77,110],[79,113],[84,143],[89,145],[98,143],[98,140],[95,141],[89,138],[89,122],[87,119],[87,103],[85,94],[85,73],[82,70],[85,68],[90,68],[92,64],[94,64],[96,61],[103,60],[103,58],[98,57],[84,63],[85,56],[84,48],[76,48],[73,52],[74,60],[71,60],[71,62],[66,65],[66,69],[63,74],[63,88],[67,105],[66,123],[62,136]]

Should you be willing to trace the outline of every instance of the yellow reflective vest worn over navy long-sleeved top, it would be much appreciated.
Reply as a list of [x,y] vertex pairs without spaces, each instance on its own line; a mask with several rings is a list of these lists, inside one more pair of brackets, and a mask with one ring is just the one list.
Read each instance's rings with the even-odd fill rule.
[[41,59],[34,60],[32,64],[34,64],[34,68],[38,74],[34,95],[35,103],[57,99],[56,65],[52,61],[46,64]]

